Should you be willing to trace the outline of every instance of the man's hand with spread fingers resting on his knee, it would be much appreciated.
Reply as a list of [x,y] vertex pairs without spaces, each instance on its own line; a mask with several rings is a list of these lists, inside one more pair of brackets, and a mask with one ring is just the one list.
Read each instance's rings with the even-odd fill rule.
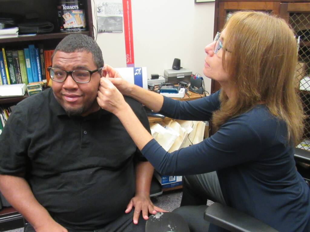
[[132,208],[135,207],[134,212],[134,224],[138,224],[139,216],[142,211],[142,216],[145,220],[148,220],[148,213],[150,214],[156,214],[157,212],[167,212],[166,210],[163,210],[157,206],[155,206],[151,199],[148,196],[145,195],[136,195],[133,197],[129,204],[127,205],[127,209],[125,213],[129,213]]

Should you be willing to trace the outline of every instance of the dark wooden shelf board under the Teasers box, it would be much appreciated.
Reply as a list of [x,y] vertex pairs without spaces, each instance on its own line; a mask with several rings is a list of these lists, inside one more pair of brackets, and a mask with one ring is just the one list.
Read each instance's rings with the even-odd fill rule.
[[89,35],[89,31],[82,32],[57,32],[57,33],[47,33],[47,34],[37,34],[33,36],[20,36],[16,38],[5,38],[0,39],[1,43],[11,43],[11,42],[21,42],[21,41],[33,41],[33,40],[44,40],[44,39],[55,39],[55,38],[64,38],[72,33],[82,33],[85,35]]

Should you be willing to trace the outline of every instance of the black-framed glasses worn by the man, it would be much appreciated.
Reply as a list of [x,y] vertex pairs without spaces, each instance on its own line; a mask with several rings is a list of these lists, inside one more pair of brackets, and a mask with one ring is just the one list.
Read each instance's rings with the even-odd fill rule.
[[95,69],[93,71],[90,70],[73,70],[73,71],[64,71],[58,68],[52,68],[51,66],[47,68],[50,72],[51,79],[56,82],[64,82],[68,75],[71,75],[73,80],[77,83],[88,83],[91,81],[91,75],[100,71],[103,67],[99,69]]

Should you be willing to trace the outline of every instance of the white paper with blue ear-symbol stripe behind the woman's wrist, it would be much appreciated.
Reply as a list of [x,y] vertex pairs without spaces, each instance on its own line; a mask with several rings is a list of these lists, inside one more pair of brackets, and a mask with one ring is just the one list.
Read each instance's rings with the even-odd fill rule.
[[146,73],[146,67],[134,67],[134,68],[116,68],[122,78],[129,83],[138,85],[144,89],[148,89],[148,76]]

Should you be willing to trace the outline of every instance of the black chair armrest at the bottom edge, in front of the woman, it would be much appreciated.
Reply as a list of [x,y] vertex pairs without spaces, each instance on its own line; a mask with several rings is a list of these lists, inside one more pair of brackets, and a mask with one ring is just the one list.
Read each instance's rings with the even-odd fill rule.
[[207,207],[204,219],[233,232],[278,232],[255,217],[220,203]]

